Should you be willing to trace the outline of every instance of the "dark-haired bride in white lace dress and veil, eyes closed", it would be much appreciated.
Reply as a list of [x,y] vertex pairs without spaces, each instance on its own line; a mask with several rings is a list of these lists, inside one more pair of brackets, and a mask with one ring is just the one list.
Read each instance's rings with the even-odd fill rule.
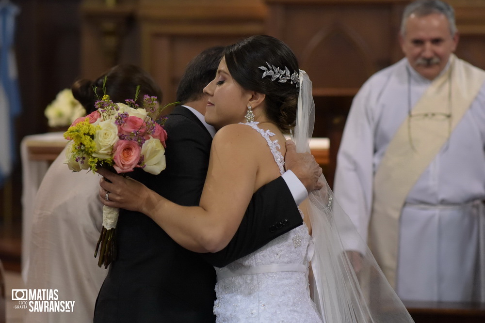
[[[100,181],[100,199],[144,213],[185,248],[216,252],[236,232],[253,193],[284,171],[284,134],[308,149],[314,104],[294,53],[265,35],[227,46],[204,92],[205,119],[218,132],[199,206],[179,206],[105,169],[99,173],[112,183]],[[412,322],[365,244],[358,259],[346,256],[346,241],[358,236],[328,186],[310,194],[302,211],[304,225],[216,268],[217,322]]]

